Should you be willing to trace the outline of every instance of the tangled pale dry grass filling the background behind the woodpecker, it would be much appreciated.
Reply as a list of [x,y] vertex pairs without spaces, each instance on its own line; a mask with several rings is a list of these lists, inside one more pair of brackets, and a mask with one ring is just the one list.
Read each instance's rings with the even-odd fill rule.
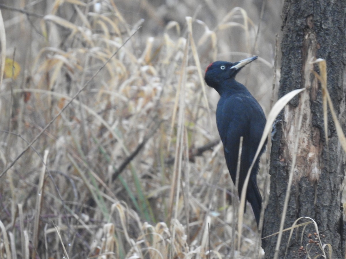
[[149,1],[16,4],[1,9],[1,60],[19,65],[6,63],[0,93],[0,258],[259,258],[251,208],[236,229],[203,81],[215,59],[259,55],[239,80],[268,111],[274,47],[255,2],[185,3],[169,22]]

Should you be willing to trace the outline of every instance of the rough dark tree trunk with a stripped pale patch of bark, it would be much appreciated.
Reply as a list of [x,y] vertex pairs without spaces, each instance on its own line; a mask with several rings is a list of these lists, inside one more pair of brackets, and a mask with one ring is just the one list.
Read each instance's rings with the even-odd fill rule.
[[[321,87],[312,72],[312,69],[318,69],[316,65],[311,65],[311,60],[313,57],[326,59],[328,91],[339,122],[345,129],[346,1],[285,0],[282,18],[279,97],[297,88],[306,87],[307,91],[286,106],[281,117],[284,121],[282,127],[280,123],[276,125],[271,150],[270,197],[262,236],[279,231],[294,143],[299,136],[284,228],[292,226],[299,217],[310,217],[318,225],[322,243],[331,245],[331,258],[345,258],[346,225],[341,195],[346,156],[330,114],[327,145]],[[302,123],[299,131],[300,116]],[[307,220],[298,223],[302,222]],[[289,231],[284,232],[278,258],[285,258],[287,245],[286,258],[306,258],[304,253],[314,258],[322,254],[321,248],[312,243],[316,241],[315,232],[313,224],[305,229],[295,229],[290,240]],[[274,257],[276,241],[277,235],[263,239],[265,258]],[[328,248],[325,251],[329,258]]]

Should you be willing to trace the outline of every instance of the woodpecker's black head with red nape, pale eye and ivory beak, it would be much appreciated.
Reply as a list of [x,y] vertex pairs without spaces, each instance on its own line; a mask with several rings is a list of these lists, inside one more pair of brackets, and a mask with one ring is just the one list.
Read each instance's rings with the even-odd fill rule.
[[255,59],[257,59],[257,56],[246,58],[235,63],[215,61],[207,67],[204,80],[207,85],[215,88],[221,82],[230,78],[235,78],[240,69]]

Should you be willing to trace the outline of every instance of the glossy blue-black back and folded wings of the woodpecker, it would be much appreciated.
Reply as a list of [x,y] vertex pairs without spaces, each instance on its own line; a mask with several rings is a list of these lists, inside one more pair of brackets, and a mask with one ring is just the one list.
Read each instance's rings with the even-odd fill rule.
[[[244,138],[238,185],[240,192],[262,136],[265,116],[252,96],[233,95],[220,99],[216,117],[219,134],[224,144],[227,167],[233,182],[236,180],[239,140],[241,136]],[[257,168],[254,168],[251,177],[255,182],[256,172]]]

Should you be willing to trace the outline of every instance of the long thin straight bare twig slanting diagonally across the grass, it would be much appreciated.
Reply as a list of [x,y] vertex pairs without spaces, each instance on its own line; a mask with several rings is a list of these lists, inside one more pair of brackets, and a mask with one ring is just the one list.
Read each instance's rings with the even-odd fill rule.
[[52,125],[52,123],[57,119],[57,117],[60,116],[60,114],[63,113],[63,111],[65,111],[65,109],[73,102],[73,100],[85,89],[85,87],[87,85],[89,85],[89,83],[92,81],[92,79],[94,79],[94,77],[100,73],[100,71],[107,65],[107,63],[115,56],[117,55],[117,53],[119,52],[119,50],[124,47],[124,45],[137,33],[137,31],[141,28],[142,26],[139,26],[137,28],[137,30],[132,33],[132,35],[130,37],[128,37],[125,42],[120,46],[119,49],[117,49],[117,51],[115,51],[113,53],[113,55],[107,59],[107,61],[105,63],[103,63],[103,65],[100,67],[100,69],[88,80],[88,82],[86,82],[84,84],[84,86],[71,98],[71,100],[61,109],[61,111],[42,129],[42,131],[30,142],[30,144],[24,148],[24,150],[16,157],[15,160],[13,160],[13,162],[0,174],[0,178],[17,162],[17,160],[36,142],[36,140],[38,140],[38,138],[47,130],[47,128],[49,126]]

